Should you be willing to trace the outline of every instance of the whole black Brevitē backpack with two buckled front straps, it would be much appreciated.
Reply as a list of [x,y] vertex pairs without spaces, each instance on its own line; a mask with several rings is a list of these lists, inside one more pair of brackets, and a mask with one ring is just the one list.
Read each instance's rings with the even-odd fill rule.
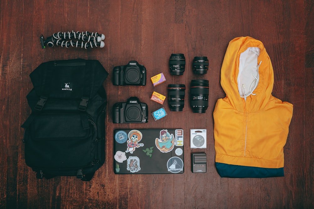
[[89,181],[104,164],[107,76],[99,61],[83,59],[45,62],[30,74],[32,112],[21,127],[37,178]]

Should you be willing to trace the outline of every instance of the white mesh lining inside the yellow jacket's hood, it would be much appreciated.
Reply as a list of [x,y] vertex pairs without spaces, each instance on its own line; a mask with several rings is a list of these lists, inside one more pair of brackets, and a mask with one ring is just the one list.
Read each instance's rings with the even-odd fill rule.
[[[241,53],[239,59],[238,90],[241,97],[246,98],[255,90],[259,81],[257,58],[260,49],[249,47]],[[254,77],[255,76],[255,77]]]

